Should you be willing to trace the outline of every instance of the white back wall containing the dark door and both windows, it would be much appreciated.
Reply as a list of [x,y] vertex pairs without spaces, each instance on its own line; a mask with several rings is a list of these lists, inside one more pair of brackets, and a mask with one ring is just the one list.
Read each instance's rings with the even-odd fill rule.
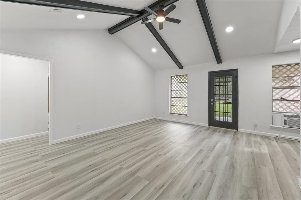
[[[155,71],[155,116],[208,124],[208,71],[238,68],[239,129],[279,134],[272,124],[272,65],[299,62],[299,51],[228,60],[222,64],[206,63]],[[169,76],[188,74],[188,114],[175,116],[169,112]],[[165,112],[165,114],[163,114]],[[283,130],[283,135],[300,138],[299,130]]]

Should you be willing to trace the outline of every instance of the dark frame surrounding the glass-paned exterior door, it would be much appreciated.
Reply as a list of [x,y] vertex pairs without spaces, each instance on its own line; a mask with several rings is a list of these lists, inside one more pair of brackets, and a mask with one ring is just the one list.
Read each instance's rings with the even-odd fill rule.
[[211,116],[210,116],[210,75],[212,73],[218,72],[228,72],[228,71],[236,71],[236,130],[238,131],[238,69],[226,69],[219,71],[209,71],[208,72],[208,126],[211,126]]

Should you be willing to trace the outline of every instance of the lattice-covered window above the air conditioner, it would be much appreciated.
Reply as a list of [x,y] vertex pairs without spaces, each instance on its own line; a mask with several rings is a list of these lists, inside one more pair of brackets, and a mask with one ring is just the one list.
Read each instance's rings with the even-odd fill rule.
[[299,63],[272,66],[273,112],[300,112]]

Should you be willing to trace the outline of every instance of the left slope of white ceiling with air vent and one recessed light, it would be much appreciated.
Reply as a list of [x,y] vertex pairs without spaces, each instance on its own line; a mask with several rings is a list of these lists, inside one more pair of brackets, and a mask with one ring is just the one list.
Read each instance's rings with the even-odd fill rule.
[[[1,29],[107,29],[127,16],[63,9],[49,12],[51,7],[0,2]],[[84,19],[77,19],[84,14]]]

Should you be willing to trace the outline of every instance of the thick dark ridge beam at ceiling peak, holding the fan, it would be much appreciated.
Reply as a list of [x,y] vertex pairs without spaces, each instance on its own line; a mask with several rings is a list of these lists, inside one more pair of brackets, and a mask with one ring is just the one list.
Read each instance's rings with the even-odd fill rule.
[[[157,1],[151,5],[148,6],[148,8],[151,8],[151,10],[157,11],[157,8],[159,5],[163,5],[164,7],[169,6],[175,2],[177,2],[178,0],[165,0],[165,1]],[[148,17],[151,15],[151,13],[147,12],[146,10],[142,9],[141,14],[137,17],[129,17],[125,20],[123,20],[122,22],[116,24],[115,26],[112,26],[111,28],[108,29],[110,34],[114,34],[128,26],[131,26],[132,24],[144,19],[145,17]]]

